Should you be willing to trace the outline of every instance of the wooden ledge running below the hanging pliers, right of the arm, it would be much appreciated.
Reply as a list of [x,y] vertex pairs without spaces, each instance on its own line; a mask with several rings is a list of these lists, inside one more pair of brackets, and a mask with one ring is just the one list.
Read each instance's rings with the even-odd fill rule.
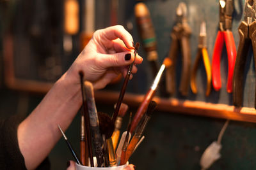
[[[102,90],[95,92],[95,99],[98,103],[113,104],[116,103],[118,95],[119,92]],[[138,107],[143,98],[144,95],[127,93],[124,96],[124,103],[132,107]],[[227,104],[212,104],[202,101],[162,99],[157,96],[154,97],[154,101],[158,104],[157,110],[159,111],[256,123],[256,110],[254,108],[236,108]]]

